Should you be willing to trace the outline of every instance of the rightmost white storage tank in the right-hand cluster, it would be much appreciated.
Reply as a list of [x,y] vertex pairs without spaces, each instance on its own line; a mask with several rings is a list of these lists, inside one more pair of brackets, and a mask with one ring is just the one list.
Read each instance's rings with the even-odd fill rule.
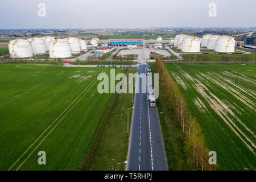
[[220,36],[216,40],[215,51],[216,52],[234,52],[236,40],[231,36]]

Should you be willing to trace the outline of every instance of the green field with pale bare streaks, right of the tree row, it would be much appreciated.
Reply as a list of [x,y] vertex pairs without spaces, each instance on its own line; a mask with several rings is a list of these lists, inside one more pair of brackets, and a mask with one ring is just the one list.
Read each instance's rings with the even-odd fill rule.
[[255,65],[166,65],[220,170],[255,170]]

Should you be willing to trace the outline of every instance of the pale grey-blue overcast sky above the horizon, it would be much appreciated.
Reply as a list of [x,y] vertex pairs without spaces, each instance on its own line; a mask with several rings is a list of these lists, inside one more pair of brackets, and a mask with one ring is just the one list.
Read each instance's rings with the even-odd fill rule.
[[255,0],[1,0],[0,29],[256,27],[255,8]]

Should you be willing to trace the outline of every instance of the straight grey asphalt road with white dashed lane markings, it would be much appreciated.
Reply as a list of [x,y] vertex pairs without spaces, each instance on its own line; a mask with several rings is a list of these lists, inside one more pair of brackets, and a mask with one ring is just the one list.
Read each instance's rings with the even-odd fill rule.
[[[139,64],[138,73],[146,74],[146,67]],[[142,79],[137,80],[137,86],[140,92],[135,94],[127,170],[168,170],[158,109],[150,107],[147,93],[141,92]]]

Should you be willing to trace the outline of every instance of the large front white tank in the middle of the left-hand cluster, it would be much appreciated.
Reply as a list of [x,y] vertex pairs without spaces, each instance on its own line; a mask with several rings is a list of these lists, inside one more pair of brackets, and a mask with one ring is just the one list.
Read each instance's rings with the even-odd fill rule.
[[49,45],[49,57],[66,58],[71,57],[71,46],[67,39],[56,39]]

